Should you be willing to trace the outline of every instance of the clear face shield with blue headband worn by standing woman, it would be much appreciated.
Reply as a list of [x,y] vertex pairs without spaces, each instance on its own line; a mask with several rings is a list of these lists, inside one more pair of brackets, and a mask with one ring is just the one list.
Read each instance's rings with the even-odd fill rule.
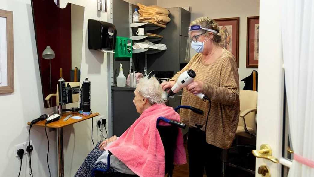
[[[188,36],[187,36],[187,50],[185,53],[185,60],[186,61],[191,60],[192,45],[194,46],[193,49],[195,49],[195,47],[200,45],[199,42],[203,42],[203,41],[199,41],[198,38],[208,31],[213,32],[215,34],[218,34],[218,32],[215,30],[212,30],[209,28],[203,28],[202,26],[199,26],[199,25],[192,25],[189,27]],[[197,50],[197,49],[195,49],[195,50]]]

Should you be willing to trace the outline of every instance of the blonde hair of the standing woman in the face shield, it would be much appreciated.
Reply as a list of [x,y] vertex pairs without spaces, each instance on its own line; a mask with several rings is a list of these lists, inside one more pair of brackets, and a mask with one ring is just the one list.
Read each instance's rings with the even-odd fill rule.
[[[191,22],[191,25],[199,25],[199,26],[202,26],[203,28],[209,28],[209,29],[212,29],[212,30],[215,30],[217,31],[217,33],[219,33],[219,27],[218,27],[218,23],[213,20],[213,19],[210,19],[209,17],[200,17],[194,21]],[[204,31],[204,32],[210,32],[210,31]],[[216,43],[220,43],[221,42],[221,36],[216,34],[216,33],[213,33],[214,37],[213,37],[213,41],[216,42]]]

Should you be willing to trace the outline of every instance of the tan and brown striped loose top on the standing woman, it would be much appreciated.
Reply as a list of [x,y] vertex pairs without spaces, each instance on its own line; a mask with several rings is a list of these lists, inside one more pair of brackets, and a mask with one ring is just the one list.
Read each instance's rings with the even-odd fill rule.
[[[203,81],[205,94],[211,101],[206,141],[214,146],[227,149],[231,146],[239,121],[239,74],[235,57],[227,50],[211,64],[203,64],[202,54],[196,54],[181,71],[171,79],[177,81],[180,74],[192,69],[196,72],[194,81]],[[204,111],[199,115],[188,109],[181,109],[180,116],[183,123],[190,127],[202,125],[205,131],[208,101],[204,102],[183,89],[181,105],[193,106]]]

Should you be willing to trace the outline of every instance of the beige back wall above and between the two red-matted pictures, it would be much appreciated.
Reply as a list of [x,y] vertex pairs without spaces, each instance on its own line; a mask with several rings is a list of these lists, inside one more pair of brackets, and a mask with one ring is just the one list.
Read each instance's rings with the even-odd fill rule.
[[249,76],[257,68],[246,68],[246,17],[259,15],[259,0],[157,0],[157,5],[168,7],[192,7],[191,21],[208,16],[212,19],[240,17],[239,24],[239,78],[240,88],[244,86],[241,79]]

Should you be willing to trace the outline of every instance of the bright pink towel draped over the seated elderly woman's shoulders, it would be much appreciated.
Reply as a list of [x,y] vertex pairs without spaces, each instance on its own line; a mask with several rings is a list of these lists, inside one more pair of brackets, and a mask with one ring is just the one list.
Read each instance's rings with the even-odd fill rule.
[[[165,176],[165,151],[156,128],[157,118],[160,116],[180,121],[179,114],[172,107],[154,104],[147,108],[118,140],[105,148],[140,177]],[[169,125],[163,121],[159,124]],[[183,136],[179,128],[174,163],[187,163]]]

